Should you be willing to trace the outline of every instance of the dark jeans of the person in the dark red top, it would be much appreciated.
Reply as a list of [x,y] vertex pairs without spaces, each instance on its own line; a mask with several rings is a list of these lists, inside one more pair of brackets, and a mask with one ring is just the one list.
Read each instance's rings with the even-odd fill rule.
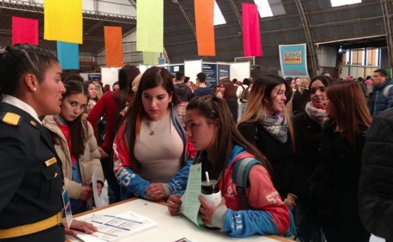
[[[105,150],[105,152],[108,152]],[[120,186],[117,184],[115,172],[113,171],[113,161],[111,157],[101,159],[102,171],[106,181],[108,182],[108,197],[109,203],[113,204],[119,202]]]

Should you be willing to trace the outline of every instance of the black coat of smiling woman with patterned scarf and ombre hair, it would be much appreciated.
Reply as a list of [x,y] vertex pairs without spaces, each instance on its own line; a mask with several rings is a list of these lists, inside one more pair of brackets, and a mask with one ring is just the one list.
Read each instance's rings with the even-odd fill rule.
[[273,167],[273,184],[281,198],[285,199],[288,193],[296,195],[293,183],[295,153],[289,134],[287,142],[281,143],[259,123],[244,122],[239,124],[238,129],[247,141],[268,158]]

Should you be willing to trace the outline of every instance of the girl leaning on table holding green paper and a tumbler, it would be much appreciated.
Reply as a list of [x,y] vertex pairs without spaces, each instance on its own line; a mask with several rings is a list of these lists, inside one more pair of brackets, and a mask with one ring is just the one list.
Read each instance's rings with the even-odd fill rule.
[[[205,172],[208,172],[211,179],[218,181],[223,195],[217,206],[208,204],[199,196],[202,221],[222,228],[233,237],[284,234],[289,227],[289,212],[273,187],[272,168],[266,158],[243,138],[232,119],[226,102],[217,97],[196,97],[187,105],[187,136],[198,150],[194,163],[201,163],[202,180],[206,180]],[[250,186],[245,188],[244,201],[236,192],[239,186],[232,177],[237,173],[234,167],[243,159],[258,161],[250,168],[247,179]],[[169,197],[171,214],[176,214],[180,205],[180,195]],[[237,226],[233,226],[234,223]]]

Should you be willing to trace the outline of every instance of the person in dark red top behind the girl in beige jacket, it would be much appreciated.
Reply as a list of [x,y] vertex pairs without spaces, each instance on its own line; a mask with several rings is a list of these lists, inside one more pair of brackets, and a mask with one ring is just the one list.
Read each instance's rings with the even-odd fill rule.
[[126,106],[126,103],[134,97],[132,82],[139,73],[139,69],[134,65],[124,65],[119,72],[120,91],[105,93],[90,111],[87,118],[93,126],[96,138],[97,121],[104,115],[106,118],[105,138],[101,147],[98,146],[98,149],[101,155],[102,170],[108,182],[108,195],[111,204],[120,201],[120,188],[113,172],[113,163],[108,155],[112,153],[113,140],[111,138],[114,135],[113,131],[117,115]]

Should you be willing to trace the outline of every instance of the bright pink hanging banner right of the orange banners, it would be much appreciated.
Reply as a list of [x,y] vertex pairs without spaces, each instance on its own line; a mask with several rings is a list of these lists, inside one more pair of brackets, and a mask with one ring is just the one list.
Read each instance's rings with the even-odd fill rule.
[[255,4],[242,4],[244,56],[262,56],[258,8]]

